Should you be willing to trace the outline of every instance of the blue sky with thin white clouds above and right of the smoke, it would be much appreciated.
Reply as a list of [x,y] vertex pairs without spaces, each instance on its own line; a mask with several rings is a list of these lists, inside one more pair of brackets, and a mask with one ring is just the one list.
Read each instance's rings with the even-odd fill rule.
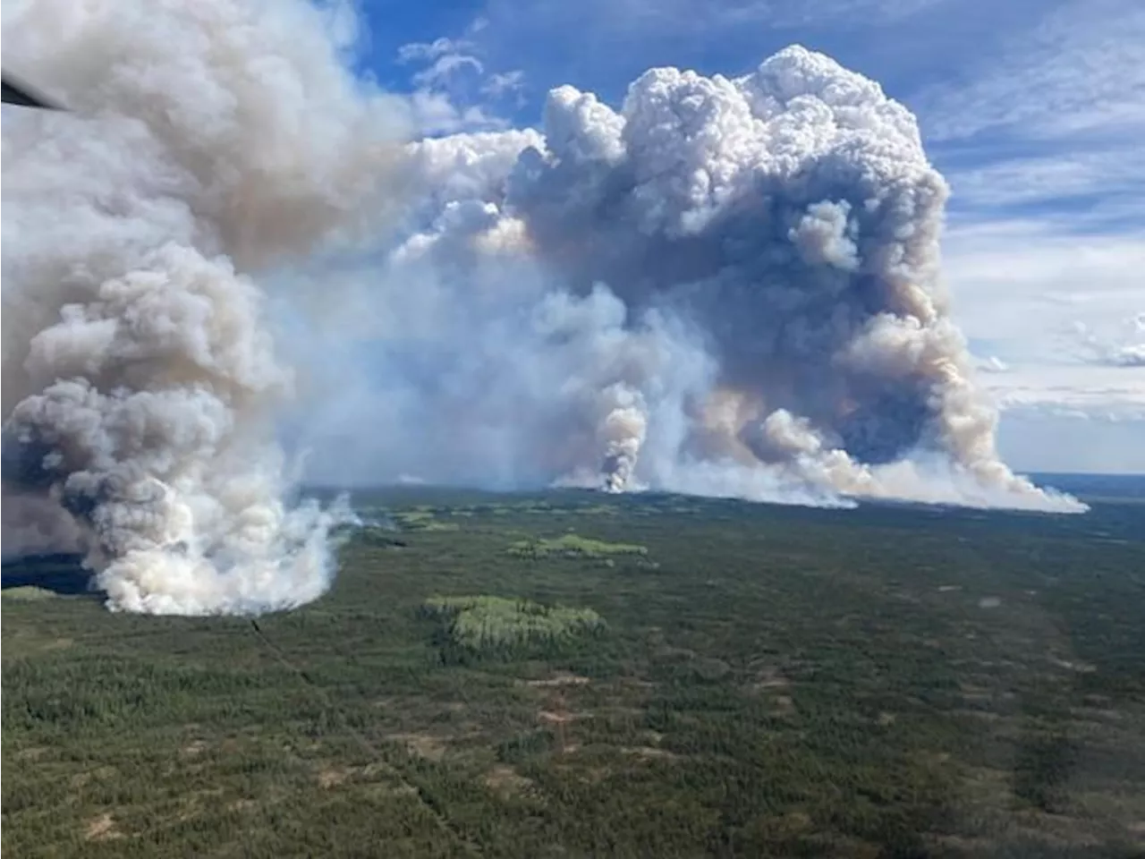
[[792,42],[879,81],[954,188],[947,278],[1008,410],[1004,452],[1018,467],[1145,471],[1142,0],[358,8],[363,66],[417,93],[433,133],[536,125],[561,84],[615,104],[653,65],[741,74]]

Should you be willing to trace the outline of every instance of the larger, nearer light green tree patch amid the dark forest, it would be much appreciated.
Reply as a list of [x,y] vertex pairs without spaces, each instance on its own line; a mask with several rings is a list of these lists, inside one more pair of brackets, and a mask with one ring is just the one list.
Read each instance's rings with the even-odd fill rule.
[[431,597],[424,610],[443,621],[450,638],[471,651],[567,641],[605,626],[591,608],[548,607],[502,597]]

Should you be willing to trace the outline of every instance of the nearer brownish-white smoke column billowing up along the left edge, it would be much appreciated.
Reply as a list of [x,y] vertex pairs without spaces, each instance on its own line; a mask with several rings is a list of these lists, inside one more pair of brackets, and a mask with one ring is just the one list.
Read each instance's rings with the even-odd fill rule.
[[330,584],[346,513],[287,503],[293,381],[255,277],[357,227],[393,167],[352,23],[303,0],[0,13],[6,62],[76,111],[0,125],[2,476],[74,517],[113,609],[258,613]]

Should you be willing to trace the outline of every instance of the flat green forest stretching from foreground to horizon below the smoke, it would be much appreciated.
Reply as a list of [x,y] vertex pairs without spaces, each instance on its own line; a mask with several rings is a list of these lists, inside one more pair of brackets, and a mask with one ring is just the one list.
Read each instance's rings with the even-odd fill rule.
[[0,856],[1145,856],[1143,499],[357,492],[331,592],[0,568]]

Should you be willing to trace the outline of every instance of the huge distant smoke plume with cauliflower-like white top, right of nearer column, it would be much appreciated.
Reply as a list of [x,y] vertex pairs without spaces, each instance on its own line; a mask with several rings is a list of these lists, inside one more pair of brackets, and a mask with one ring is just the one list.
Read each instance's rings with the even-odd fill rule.
[[344,356],[372,379],[309,426],[355,463],[1083,509],[1000,462],[941,285],[947,186],[909,111],[826,56],[789,48],[735,80],[656,69],[619,112],[560,87],[543,136],[425,141],[409,173],[416,226]]

